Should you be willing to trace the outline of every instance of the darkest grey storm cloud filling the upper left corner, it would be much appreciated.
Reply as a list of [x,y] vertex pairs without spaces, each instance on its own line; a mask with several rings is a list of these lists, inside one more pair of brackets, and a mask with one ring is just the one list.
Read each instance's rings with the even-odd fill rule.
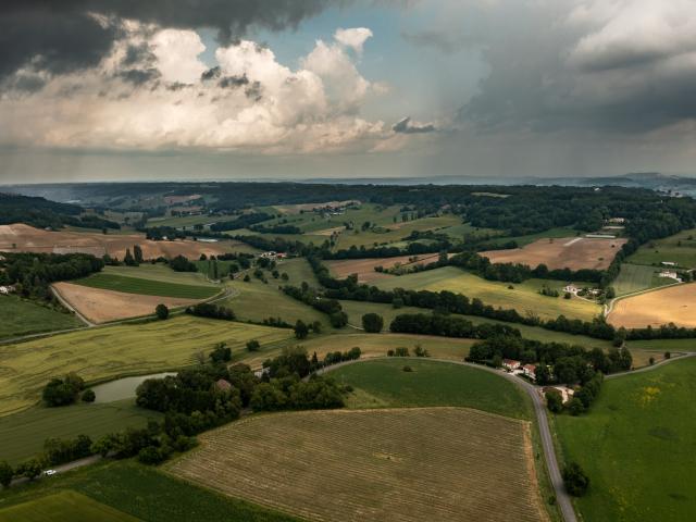
[[[165,27],[217,30],[221,41],[250,26],[296,27],[327,5],[349,0],[3,0],[0,3],[0,79],[32,62],[64,73],[96,65],[120,35],[119,24],[100,24],[90,13]],[[133,49],[126,60],[141,58]],[[147,51],[147,50],[145,50]],[[136,62],[134,62],[136,63]]]

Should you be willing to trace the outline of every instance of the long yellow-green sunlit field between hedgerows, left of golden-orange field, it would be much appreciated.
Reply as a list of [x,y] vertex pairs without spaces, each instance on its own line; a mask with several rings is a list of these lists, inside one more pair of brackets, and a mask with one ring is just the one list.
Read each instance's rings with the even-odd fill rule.
[[[456,266],[444,266],[388,279],[377,279],[374,284],[383,289],[449,290],[463,294],[470,299],[477,297],[486,304],[506,309],[513,308],[521,314],[533,313],[542,319],[556,319],[562,313],[570,319],[591,321],[601,312],[599,304],[579,298],[563,299],[562,297],[554,298],[539,295],[538,290],[543,285],[559,291],[562,290],[566,284],[560,281],[527,279],[510,285],[509,283],[484,279]],[[510,289],[509,286],[513,286],[513,289]]]

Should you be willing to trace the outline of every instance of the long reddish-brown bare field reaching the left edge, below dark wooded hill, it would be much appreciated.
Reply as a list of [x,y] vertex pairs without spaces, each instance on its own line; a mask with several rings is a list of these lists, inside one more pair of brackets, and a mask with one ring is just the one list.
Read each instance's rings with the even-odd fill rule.
[[0,251],[73,253],[84,252],[123,259],[126,248],[139,245],[145,259],[184,256],[198,259],[201,253],[217,256],[232,252],[237,241],[203,243],[192,240],[151,241],[139,234],[98,234],[79,232],[48,232],[16,223],[0,225]]

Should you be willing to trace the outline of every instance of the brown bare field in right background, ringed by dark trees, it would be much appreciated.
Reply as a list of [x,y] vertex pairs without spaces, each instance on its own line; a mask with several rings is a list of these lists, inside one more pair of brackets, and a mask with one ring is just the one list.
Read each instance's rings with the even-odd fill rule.
[[532,268],[544,263],[550,270],[605,270],[625,243],[626,239],[588,237],[543,238],[522,248],[478,253],[492,263],[522,263]]

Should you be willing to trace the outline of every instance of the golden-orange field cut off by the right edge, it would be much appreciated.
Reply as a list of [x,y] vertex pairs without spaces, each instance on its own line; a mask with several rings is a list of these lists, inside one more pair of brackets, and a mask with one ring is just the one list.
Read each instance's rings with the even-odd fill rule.
[[608,321],[626,328],[668,323],[696,327],[696,284],[671,286],[614,301]]

